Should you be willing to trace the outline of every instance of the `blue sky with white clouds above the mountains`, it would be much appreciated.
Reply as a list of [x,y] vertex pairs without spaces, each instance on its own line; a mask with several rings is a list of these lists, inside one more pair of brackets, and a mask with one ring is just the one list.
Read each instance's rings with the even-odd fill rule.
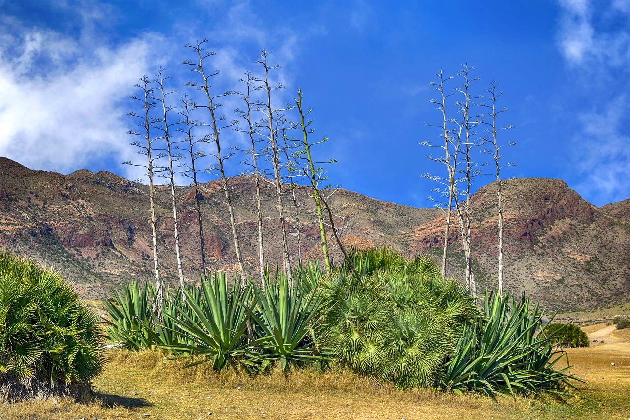
[[420,175],[440,168],[420,143],[437,139],[424,124],[440,115],[428,82],[467,62],[480,92],[493,80],[505,92],[515,129],[504,138],[518,143],[506,177],[563,178],[597,205],[630,197],[628,0],[0,0],[0,16],[0,155],[31,168],[135,178],[120,162],[134,157],[137,78],[161,65],[185,91],[182,46],[209,38],[224,89],[256,71],[261,48],[274,52],[278,101],[305,92],[316,135],[330,138],[321,153],[338,159],[335,185],[430,206]]

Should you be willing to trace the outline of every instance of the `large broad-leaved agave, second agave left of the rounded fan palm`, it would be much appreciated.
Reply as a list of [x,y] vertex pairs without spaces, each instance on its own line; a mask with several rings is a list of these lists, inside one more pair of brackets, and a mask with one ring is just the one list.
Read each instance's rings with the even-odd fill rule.
[[161,325],[173,333],[171,341],[156,345],[176,353],[206,356],[215,370],[226,368],[248,346],[248,309],[243,302],[251,300],[252,287],[253,282],[243,287],[239,277],[229,286],[226,274],[217,272],[202,279],[200,294],[197,289],[185,289],[187,309],[163,313],[175,326]]

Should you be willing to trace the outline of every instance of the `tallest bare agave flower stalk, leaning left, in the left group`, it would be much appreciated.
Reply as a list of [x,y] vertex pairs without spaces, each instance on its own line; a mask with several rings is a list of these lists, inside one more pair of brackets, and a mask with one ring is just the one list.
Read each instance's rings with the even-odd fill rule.
[[215,55],[214,52],[209,51],[206,52],[203,49],[203,44],[207,43],[208,40],[203,40],[202,42],[197,42],[196,45],[192,45],[192,44],[186,44],[186,47],[192,49],[195,51],[195,53],[197,53],[197,58],[198,60],[193,62],[190,60],[186,60],[183,61],[183,64],[185,64],[186,66],[190,66],[192,67],[192,71],[194,71],[195,73],[199,74],[200,78],[201,78],[201,82],[194,82],[194,81],[189,81],[186,83],[186,86],[193,86],[201,91],[203,91],[203,93],[205,94],[206,100],[208,105],[198,105],[195,104],[195,107],[197,108],[205,108],[208,110],[209,114],[210,114],[210,128],[212,129],[212,132],[210,134],[210,136],[208,136],[208,141],[212,141],[214,142],[215,146],[216,146],[216,153],[214,155],[214,157],[217,160],[217,166],[215,168],[211,168],[211,169],[215,169],[219,172],[219,176],[221,177],[221,183],[223,185],[223,190],[225,192],[226,195],[226,204],[227,204],[227,211],[229,213],[229,218],[230,218],[230,225],[232,228],[232,238],[234,239],[234,251],[236,252],[236,259],[238,260],[238,264],[239,264],[239,269],[241,272],[241,277],[243,279],[247,278],[247,274],[245,272],[245,265],[243,262],[243,255],[241,254],[241,245],[239,242],[239,236],[238,236],[238,228],[236,225],[236,215],[234,213],[234,206],[232,204],[232,197],[231,197],[231,192],[229,189],[229,182],[227,180],[227,176],[226,176],[226,170],[225,170],[225,161],[229,158],[231,158],[231,156],[234,155],[234,153],[227,153],[227,155],[222,155],[222,150],[221,150],[221,140],[219,138],[219,135],[221,134],[221,131],[223,131],[224,129],[227,129],[229,127],[232,127],[233,125],[236,124],[235,120],[232,120],[231,122],[226,122],[226,117],[225,115],[217,115],[216,111],[217,108],[221,107],[221,103],[219,103],[219,100],[221,100],[221,98],[224,98],[227,95],[231,95],[231,91],[225,91],[224,93],[221,93],[219,95],[211,95],[210,94],[210,84],[209,84],[209,79],[216,76],[217,74],[219,74],[218,70],[212,71],[212,73],[206,73],[204,66],[204,62],[208,57],[211,57],[212,55]]

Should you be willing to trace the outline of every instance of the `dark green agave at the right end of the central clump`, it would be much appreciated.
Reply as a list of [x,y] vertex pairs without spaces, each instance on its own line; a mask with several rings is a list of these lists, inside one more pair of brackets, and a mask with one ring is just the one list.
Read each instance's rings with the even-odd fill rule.
[[[438,388],[486,395],[539,394],[558,391],[570,380],[566,353],[545,333],[549,322],[525,295],[486,295],[484,319],[464,324],[453,356],[438,378]],[[556,370],[559,361],[564,368]]]

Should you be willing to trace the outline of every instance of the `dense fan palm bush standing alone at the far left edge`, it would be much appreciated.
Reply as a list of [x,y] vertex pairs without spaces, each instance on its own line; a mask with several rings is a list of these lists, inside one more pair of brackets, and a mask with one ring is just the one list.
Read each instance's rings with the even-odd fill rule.
[[102,342],[59,273],[0,252],[0,399],[78,397],[103,368]]

